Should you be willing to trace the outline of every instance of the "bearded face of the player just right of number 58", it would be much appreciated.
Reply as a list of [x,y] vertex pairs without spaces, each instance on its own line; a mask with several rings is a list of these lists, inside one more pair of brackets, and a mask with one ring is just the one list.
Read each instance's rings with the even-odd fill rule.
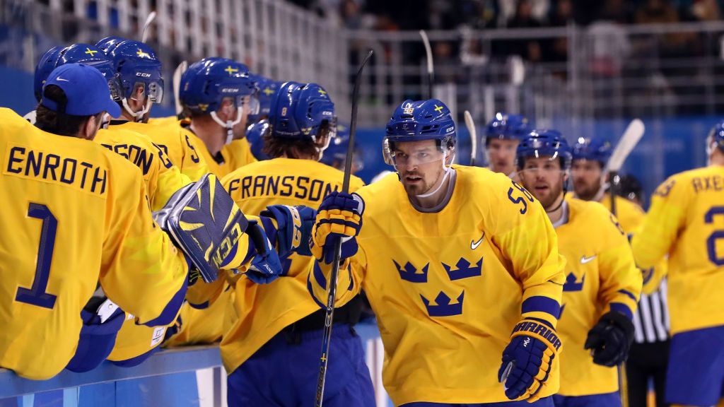
[[560,160],[550,157],[526,158],[526,163],[518,175],[523,186],[545,209],[553,206],[563,194],[563,182],[568,177],[560,168]]

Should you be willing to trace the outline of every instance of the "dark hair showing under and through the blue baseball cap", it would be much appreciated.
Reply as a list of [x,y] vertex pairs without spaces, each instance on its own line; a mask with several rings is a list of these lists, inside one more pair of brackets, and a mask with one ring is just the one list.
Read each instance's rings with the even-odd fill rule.
[[[64,110],[68,103],[65,92],[56,85],[47,85],[43,89],[43,97],[54,101],[58,105],[59,110]],[[92,115],[74,116],[72,114],[55,112],[42,104],[38,104],[38,107],[35,108],[35,126],[48,133],[75,137],[80,131],[81,126],[83,126],[91,116]],[[100,113],[96,114],[96,119],[99,120],[100,116]]]

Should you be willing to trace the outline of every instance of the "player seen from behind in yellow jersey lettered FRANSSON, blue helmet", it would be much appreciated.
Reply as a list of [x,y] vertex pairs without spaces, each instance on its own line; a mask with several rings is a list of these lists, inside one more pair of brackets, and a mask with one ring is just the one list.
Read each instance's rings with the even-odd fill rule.
[[[337,128],[324,88],[284,83],[271,102],[269,123],[264,152],[271,159],[241,167],[223,180],[245,213],[286,211],[285,205],[316,208],[327,193],[342,188],[342,172],[318,162]],[[350,190],[362,186],[352,177]],[[299,211],[314,217],[312,209]],[[235,301],[227,309],[232,325],[222,340],[229,406],[302,406],[313,400],[324,311],[306,290],[312,261],[311,253],[293,254],[285,261],[285,277],[271,285],[236,282]],[[327,387],[324,406],[374,405],[363,346],[352,329],[360,312],[361,298],[334,312],[333,352],[347,356],[330,362],[329,374],[338,383]],[[289,379],[278,379],[289,371],[295,372]]]

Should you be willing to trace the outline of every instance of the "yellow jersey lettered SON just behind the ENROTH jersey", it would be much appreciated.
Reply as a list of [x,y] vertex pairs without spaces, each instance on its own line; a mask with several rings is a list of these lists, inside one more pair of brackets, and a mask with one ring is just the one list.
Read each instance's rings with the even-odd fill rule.
[[129,130],[125,126],[111,126],[108,130],[98,130],[94,141],[140,168],[153,211],[163,208],[177,190],[191,182],[189,177],[181,174],[164,151],[143,133]]

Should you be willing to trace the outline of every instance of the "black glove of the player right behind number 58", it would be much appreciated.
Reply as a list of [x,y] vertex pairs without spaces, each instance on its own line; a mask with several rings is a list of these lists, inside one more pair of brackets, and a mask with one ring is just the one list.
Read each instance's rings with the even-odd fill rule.
[[591,349],[593,363],[613,367],[628,358],[633,343],[633,323],[626,315],[610,311],[589,331],[584,348]]

